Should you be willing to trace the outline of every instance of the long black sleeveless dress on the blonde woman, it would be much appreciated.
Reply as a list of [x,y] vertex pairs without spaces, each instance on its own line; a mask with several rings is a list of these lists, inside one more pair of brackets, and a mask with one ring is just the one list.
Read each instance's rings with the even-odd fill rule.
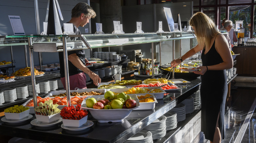
[[[223,62],[220,54],[215,49],[215,40],[211,49],[206,54],[204,52],[205,49],[203,49],[201,55],[203,66],[216,65]],[[222,139],[224,139],[224,109],[227,96],[226,70],[206,71],[204,75],[201,75],[201,79],[201,131],[204,133],[205,139],[213,141],[217,118],[220,112],[219,127]]]

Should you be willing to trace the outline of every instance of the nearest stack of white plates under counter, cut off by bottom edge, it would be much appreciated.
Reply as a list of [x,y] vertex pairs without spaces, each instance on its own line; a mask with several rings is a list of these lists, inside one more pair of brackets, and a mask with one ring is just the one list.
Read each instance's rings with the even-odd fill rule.
[[152,133],[147,130],[141,130],[124,143],[153,143]]

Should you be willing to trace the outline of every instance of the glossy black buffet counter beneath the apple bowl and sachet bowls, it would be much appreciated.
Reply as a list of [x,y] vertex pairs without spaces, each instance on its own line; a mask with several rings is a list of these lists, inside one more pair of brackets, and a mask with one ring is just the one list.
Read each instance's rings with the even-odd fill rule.
[[[187,87],[185,89],[181,89],[181,92],[172,91],[172,93],[165,95],[163,99],[158,99],[155,109],[132,111],[131,114],[122,122],[99,123],[89,114],[88,120],[94,122],[93,126],[81,131],[69,131],[61,128],[60,125],[62,122],[48,127],[34,126],[30,124],[30,121],[34,119],[34,117],[32,117],[22,123],[7,123],[0,121],[0,134],[46,142],[121,143],[138,133],[144,127],[175,107],[178,103],[199,90],[201,79],[196,78],[190,82],[191,83],[187,83]],[[192,119],[198,112],[200,112],[200,109],[189,114],[182,122],[187,122]],[[181,130],[183,125],[182,122],[178,123],[177,128],[167,131],[166,135],[175,135],[174,133]],[[168,136],[167,138],[170,137],[171,136]]]

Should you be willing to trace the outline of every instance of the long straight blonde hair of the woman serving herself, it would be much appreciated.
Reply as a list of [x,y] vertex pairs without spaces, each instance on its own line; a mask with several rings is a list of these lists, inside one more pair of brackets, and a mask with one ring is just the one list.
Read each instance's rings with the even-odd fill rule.
[[210,48],[211,39],[220,33],[212,19],[202,12],[195,13],[189,20],[189,25],[195,27],[198,44],[204,48]]

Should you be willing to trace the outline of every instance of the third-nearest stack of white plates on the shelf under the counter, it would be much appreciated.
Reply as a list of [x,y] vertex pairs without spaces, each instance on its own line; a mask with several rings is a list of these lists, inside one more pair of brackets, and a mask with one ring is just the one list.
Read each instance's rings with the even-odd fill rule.
[[166,130],[172,130],[177,127],[177,114],[175,112],[168,111],[163,116],[167,118],[165,121]]

